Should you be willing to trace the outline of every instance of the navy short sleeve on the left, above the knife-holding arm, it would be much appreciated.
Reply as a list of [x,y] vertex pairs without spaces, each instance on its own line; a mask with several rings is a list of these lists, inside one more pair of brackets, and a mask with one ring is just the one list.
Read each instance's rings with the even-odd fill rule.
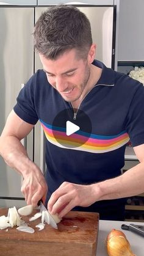
[[21,89],[18,97],[16,98],[16,105],[13,110],[15,113],[27,123],[35,125],[38,121],[37,112],[35,111],[35,76],[32,76],[26,85]]

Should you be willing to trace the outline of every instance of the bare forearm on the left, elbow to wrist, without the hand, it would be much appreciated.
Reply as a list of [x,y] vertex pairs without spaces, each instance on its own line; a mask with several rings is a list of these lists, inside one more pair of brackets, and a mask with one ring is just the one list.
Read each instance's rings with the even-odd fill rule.
[[29,159],[25,148],[16,137],[0,137],[0,154],[7,165],[23,176],[35,169],[35,164]]

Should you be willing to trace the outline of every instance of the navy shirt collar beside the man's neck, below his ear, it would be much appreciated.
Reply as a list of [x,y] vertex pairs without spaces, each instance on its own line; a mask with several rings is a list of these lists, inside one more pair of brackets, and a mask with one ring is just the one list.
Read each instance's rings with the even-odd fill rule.
[[112,68],[107,68],[103,62],[99,60],[93,60],[92,64],[102,68],[101,77],[96,83],[96,86],[115,86],[115,71]]

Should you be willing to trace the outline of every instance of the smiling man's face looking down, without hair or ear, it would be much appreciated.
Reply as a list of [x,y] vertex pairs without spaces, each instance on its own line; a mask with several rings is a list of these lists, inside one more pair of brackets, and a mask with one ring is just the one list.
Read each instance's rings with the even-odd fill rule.
[[73,102],[81,97],[90,76],[87,59],[77,58],[76,50],[71,49],[56,60],[46,59],[40,54],[40,60],[49,84],[65,101]]

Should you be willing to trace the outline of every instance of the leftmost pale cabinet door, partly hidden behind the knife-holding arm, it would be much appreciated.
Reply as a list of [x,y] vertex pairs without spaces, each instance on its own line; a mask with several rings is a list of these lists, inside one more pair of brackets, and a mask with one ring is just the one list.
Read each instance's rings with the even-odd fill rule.
[[[7,116],[16,103],[21,85],[32,76],[34,71],[33,46],[33,7],[0,7],[0,133]],[[32,158],[32,134],[27,139],[28,150]],[[21,194],[21,176],[10,169],[0,158],[0,196],[23,197]],[[0,197],[0,199],[1,199]],[[12,200],[0,200],[0,207],[13,205]]]

